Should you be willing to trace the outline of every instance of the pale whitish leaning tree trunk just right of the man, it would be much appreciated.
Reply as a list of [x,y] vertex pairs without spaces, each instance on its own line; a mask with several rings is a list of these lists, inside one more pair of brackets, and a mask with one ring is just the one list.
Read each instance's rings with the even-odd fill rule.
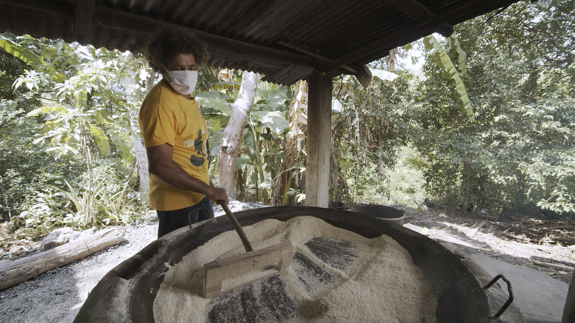
[[254,104],[256,84],[259,74],[244,71],[241,75],[240,92],[236,102],[230,103],[232,109],[228,125],[222,131],[222,142],[217,152],[217,172],[220,176],[220,187],[229,197],[236,195],[236,157],[240,152],[244,124]]

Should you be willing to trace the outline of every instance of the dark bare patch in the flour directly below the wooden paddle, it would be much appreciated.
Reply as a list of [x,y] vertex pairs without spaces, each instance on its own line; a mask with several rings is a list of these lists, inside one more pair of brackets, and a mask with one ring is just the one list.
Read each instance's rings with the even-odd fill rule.
[[210,300],[208,323],[288,322],[297,315],[297,305],[286,294],[285,283],[271,276]]

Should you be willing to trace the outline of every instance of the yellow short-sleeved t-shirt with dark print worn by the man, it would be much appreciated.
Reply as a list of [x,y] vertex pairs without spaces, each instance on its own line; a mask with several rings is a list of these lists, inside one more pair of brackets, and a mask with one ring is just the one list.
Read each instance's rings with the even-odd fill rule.
[[[190,176],[209,184],[208,127],[194,99],[186,99],[158,82],[146,95],[138,118],[144,147],[164,143],[174,147],[172,159]],[[148,199],[160,211],[200,203],[204,194],[181,190],[150,174]]]

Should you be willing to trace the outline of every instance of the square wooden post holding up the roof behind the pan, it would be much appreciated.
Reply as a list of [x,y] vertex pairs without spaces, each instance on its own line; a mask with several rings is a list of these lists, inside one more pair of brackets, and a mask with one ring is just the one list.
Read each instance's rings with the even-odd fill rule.
[[305,157],[305,205],[328,206],[329,156],[331,155],[332,79],[309,77],[308,138]]

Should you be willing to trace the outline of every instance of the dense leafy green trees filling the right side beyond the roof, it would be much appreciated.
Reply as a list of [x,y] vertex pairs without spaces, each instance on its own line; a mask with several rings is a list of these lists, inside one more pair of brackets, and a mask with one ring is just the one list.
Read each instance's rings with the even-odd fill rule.
[[461,44],[447,41],[465,47],[467,60],[457,49],[451,63],[466,64],[475,114],[463,124],[457,95],[427,57],[412,142],[437,198],[455,206],[468,194],[490,209],[573,212],[573,4],[519,2],[488,24],[478,17],[457,25]]

